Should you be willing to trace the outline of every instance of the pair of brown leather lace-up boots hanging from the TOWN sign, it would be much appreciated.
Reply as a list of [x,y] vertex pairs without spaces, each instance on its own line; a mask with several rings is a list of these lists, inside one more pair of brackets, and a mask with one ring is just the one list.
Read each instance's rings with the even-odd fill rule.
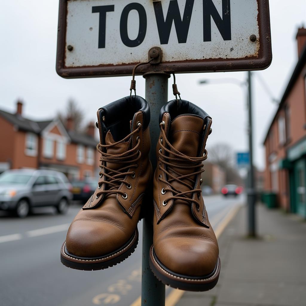
[[136,248],[138,221],[154,207],[150,267],[155,276],[183,290],[213,288],[220,272],[219,249],[200,188],[211,118],[185,100],[163,106],[153,174],[147,101],[129,96],[100,108],[97,115],[100,179],[69,227],[62,263],[79,270],[120,263]]

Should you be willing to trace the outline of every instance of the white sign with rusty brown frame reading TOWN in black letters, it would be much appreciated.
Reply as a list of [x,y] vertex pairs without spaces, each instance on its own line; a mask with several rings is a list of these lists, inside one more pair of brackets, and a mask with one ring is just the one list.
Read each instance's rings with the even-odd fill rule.
[[268,0],[60,0],[60,76],[131,75],[152,47],[162,51],[155,71],[265,69],[272,60]]

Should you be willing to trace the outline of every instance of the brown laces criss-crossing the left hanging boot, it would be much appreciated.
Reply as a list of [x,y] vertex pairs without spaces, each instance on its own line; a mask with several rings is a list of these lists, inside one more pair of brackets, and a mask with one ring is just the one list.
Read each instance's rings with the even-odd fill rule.
[[[97,150],[101,154],[100,162],[101,164],[99,167],[101,168],[101,171],[99,173],[100,175],[100,180],[99,180],[99,189],[102,187],[103,184],[106,184],[105,190],[98,191],[96,193],[96,198],[98,199],[99,196],[103,193],[106,194],[106,196],[110,194],[117,194],[120,193],[124,199],[126,199],[127,194],[121,190],[118,190],[120,187],[121,183],[126,184],[126,186],[130,189],[132,186],[129,184],[129,182],[125,181],[124,178],[126,175],[131,175],[132,178],[135,177],[135,172],[134,171],[127,171],[130,170],[130,168],[136,168],[138,167],[137,161],[141,157],[141,151],[138,149],[140,146],[140,139],[137,137],[136,141],[137,144],[135,147],[129,149],[128,151],[125,151],[121,154],[108,154],[103,151],[103,148],[110,148],[110,147],[115,147],[118,144],[121,144],[128,140],[132,135],[135,133],[139,132],[141,128],[141,124],[138,124],[138,127],[136,130],[131,132],[129,135],[127,135],[125,138],[123,138],[120,141],[117,141],[113,144],[98,144],[97,145]],[[112,162],[112,163],[119,163],[123,164],[123,167],[115,170],[111,169],[106,166],[106,162]],[[126,166],[124,166],[126,165]],[[105,177],[104,180],[102,178]]]

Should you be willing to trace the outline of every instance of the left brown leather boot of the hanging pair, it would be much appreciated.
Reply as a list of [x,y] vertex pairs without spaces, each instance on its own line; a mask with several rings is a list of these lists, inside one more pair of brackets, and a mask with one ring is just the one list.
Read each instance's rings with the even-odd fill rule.
[[100,270],[120,263],[138,243],[140,210],[152,177],[150,109],[129,96],[98,110],[101,172],[97,189],[71,223],[61,249],[70,268]]

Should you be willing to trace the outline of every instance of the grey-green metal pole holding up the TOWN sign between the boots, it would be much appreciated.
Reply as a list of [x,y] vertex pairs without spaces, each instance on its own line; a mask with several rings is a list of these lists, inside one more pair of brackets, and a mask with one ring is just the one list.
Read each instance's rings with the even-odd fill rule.
[[[156,144],[159,137],[159,111],[168,101],[168,78],[166,73],[147,73],[146,79],[146,100],[151,109],[150,135],[151,150],[150,159],[153,170],[156,168]],[[151,193],[152,203],[147,203],[148,207],[153,207],[153,192]],[[152,209],[153,213],[153,209]],[[142,278],[141,278],[141,305],[142,306],[164,306],[165,305],[165,285],[158,281],[149,266],[149,250],[153,244],[152,214],[143,220],[143,244],[142,244]]]

